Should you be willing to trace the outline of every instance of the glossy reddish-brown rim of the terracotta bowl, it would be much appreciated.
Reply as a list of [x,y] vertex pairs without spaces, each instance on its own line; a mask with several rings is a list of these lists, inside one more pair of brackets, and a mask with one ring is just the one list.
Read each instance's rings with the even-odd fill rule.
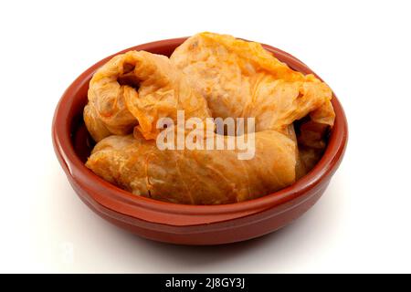
[[[92,74],[97,68],[107,62],[111,57],[124,53],[129,50],[153,50],[156,47],[169,46],[177,47],[187,37],[164,39],[135,47],[122,50],[109,57],[105,57],[76,78],[73,83],[66,89],[58,106],[52,124],[52,140],[58,160],[68,177],[85,192],[97,201],[97,203],[118,212],[120,214],[130,215],[148,222],[171,224],[171,225],[195,225],[216,223],[230,219],[244,217],[249,214],[279,206],[280,204],[290,202],[307,193],[311,189],[319,186],[322,181],[329,180],[332,174],[338,168],[343,153],[346,148],[348,139],[348,126],[342,105],[333,94],[332,105],[336,114],[335,124],[327,145],[327,148],[320,160],[311,172],[300,178],[296,183],[286,187],[276,193],[270,193],[257,199],[240,202],[227,203],[220,205],[188,205],[178,203],[166,203],[153,200],[150,198],[133,195],[132,193],[121,190],[115,185],[108,183],[99,176],[91,172],[76,154],[71,141],[71,127],[68,126],[73,118],[72,108],[73,100],[76,93],[85,82],[89,82]],[[310,68],[302,63],[296,57],[280,50],[276,47],[262,44],[263,47],[274,53],[282,62],[299,70],[302,73],[312,73]],[[316,75],[317,76],[317,75]],[[318,76],[317,76],[318,77]],[[319,78],[319,77],[318,77]],[[71,120],[70,120],[71,119]],[[130,207],[130,208],[126,208]],[[134,209],[135,210],[134,210]],[[127,210],[126,210],[127,209]],[[134,210],[134,211],[133,211]],[[150,215],[142,214],[138,210],[148,211]],[[173,218],[178,219],[173,222]],[[196,218],[196,219],[195,219]]]

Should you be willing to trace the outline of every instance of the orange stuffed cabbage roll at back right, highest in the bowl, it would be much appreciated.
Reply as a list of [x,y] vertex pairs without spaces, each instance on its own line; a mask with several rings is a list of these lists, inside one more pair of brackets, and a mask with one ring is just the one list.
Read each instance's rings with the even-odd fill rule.
[[332,126],[332,90],[258,43],[201,33],[177,47],[170,59],[203,94],[213,117],[252,117],[257,131],[285,130],[308,114]]

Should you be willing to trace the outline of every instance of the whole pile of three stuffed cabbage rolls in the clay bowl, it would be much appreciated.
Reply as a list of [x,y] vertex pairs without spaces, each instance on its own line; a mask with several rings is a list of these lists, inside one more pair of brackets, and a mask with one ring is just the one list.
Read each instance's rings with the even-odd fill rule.
[[171,57],[111,58],[88,98],[84,120],[97,144],[86,166],[171,203],[236,203],[289,186],[321,158],[335,116],[324,82],[258,43],[213,33],[188,38]]

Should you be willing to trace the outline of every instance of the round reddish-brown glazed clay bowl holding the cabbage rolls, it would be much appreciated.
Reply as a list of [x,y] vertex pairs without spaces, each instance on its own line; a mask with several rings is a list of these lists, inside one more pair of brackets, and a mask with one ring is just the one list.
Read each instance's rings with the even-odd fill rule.
[[[131,47],[170,56],[186,38],[167,39]],[[263,45],[290,68],[313,73],[310,68],[278,48]],[[117,55],[117,54],[116,54]],[[298,182],[277,193],[242,203],[184,205],[164,203],[125,192],[100,179],[84,166],[90,137],[82,121],[90,78],[106,57],[82,73],[58,102],[52,139],[58,161],[80,199],[101,217],[137,235],[184,245],[217,245],[266,235],[305,213],[324,193],[342,161],[348,130],[342,106],[333,96],[336,113],[328,146],[321,161]]]

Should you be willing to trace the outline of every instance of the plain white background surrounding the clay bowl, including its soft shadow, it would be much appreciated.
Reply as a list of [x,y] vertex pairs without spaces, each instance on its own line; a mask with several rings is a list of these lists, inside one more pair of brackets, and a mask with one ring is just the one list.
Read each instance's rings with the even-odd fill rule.
[[[0,272],[411,272],[410,13],[408,1],[2,1]],[[154,243],[79,201],[52,149],[52,115],[102,57],[205,30],[303,60],[341,100],[350,141],[320,202],[279,232]]]

